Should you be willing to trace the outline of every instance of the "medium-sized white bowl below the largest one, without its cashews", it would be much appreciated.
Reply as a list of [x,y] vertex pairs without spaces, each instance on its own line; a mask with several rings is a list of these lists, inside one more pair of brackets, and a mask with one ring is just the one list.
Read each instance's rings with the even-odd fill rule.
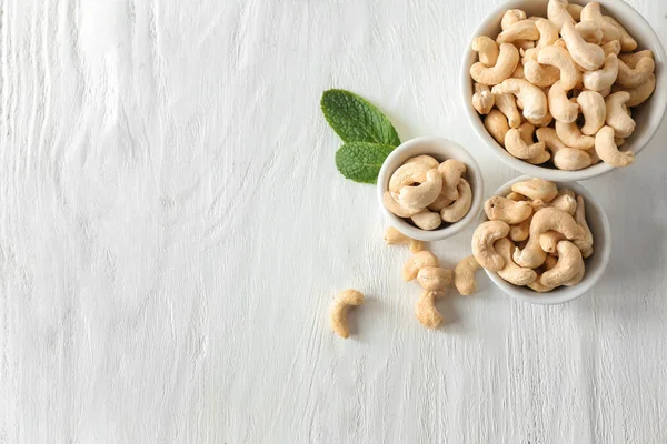
[[[516,182],[530,179],[527,175],[510,180],[505,185],[500,186],[494,195],[507,195],[511,192],[511,185]],[[593,255],[585,259],[586,263],[586,275],[575,286],[559,286],[548,293],[538,293],[530,290],[527,286],[517,286],[510,284],[500,278],[497,273],[485,269],[487,275],[494,281],[500,290],[505,291],[510,296],[520,301],[530,302],[531,304],[544,304],[555,305],[569,302],[574,299],[579,297],[586,293],[605,273],[609,258],[611,255],[611,229],[609,228],[609,220],[605,211],[595,202],[595,199],[590,191],[576,182],[556,182],[556,185],[560,190],[561,188],[569,188],[578,195],[584,198],[586,203],[586,222],[593,233]],[[488,221],[486,214],[482,213],[481,222]]]

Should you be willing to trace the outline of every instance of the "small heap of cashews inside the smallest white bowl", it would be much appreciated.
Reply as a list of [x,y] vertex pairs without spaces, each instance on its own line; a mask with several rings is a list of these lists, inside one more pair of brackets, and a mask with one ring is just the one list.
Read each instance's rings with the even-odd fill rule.
[[466,164],[455,159],[442,163],[430,155],[408,159],[389,179],[385,206],[421,230],[458,222],[472,204],[472,190],[465,174]]

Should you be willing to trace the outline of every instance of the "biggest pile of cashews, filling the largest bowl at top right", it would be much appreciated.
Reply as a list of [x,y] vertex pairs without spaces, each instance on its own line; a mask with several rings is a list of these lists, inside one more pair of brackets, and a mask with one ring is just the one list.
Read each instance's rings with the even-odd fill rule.
[[635,51],[598,2],[550,0],[546,19],[508,10],[501,29],[495,40],[472,40],[479,61],[470,68],[472,105],[494,139],[515,158],[559,170],[631,164],[634,153],[618,147],[635,130],[630,109],[655,89],[653,52]]

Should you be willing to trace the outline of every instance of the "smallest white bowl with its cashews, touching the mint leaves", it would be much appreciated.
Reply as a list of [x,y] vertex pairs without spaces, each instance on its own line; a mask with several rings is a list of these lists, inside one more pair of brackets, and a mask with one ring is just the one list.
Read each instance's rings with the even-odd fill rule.
[[417,138],[387,157],[377,181],[381,211],[409,238],[438,241],[477,220],[484,182],[477,162],[456,142]]

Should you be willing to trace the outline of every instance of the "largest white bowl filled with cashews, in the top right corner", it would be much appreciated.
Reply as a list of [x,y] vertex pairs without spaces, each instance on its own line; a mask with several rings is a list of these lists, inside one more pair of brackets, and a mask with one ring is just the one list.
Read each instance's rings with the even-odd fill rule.
[[628,167],[667,108],[666,56],[623,0],[510,0],[464,54],[472,127],[498,158],[552,181]]

